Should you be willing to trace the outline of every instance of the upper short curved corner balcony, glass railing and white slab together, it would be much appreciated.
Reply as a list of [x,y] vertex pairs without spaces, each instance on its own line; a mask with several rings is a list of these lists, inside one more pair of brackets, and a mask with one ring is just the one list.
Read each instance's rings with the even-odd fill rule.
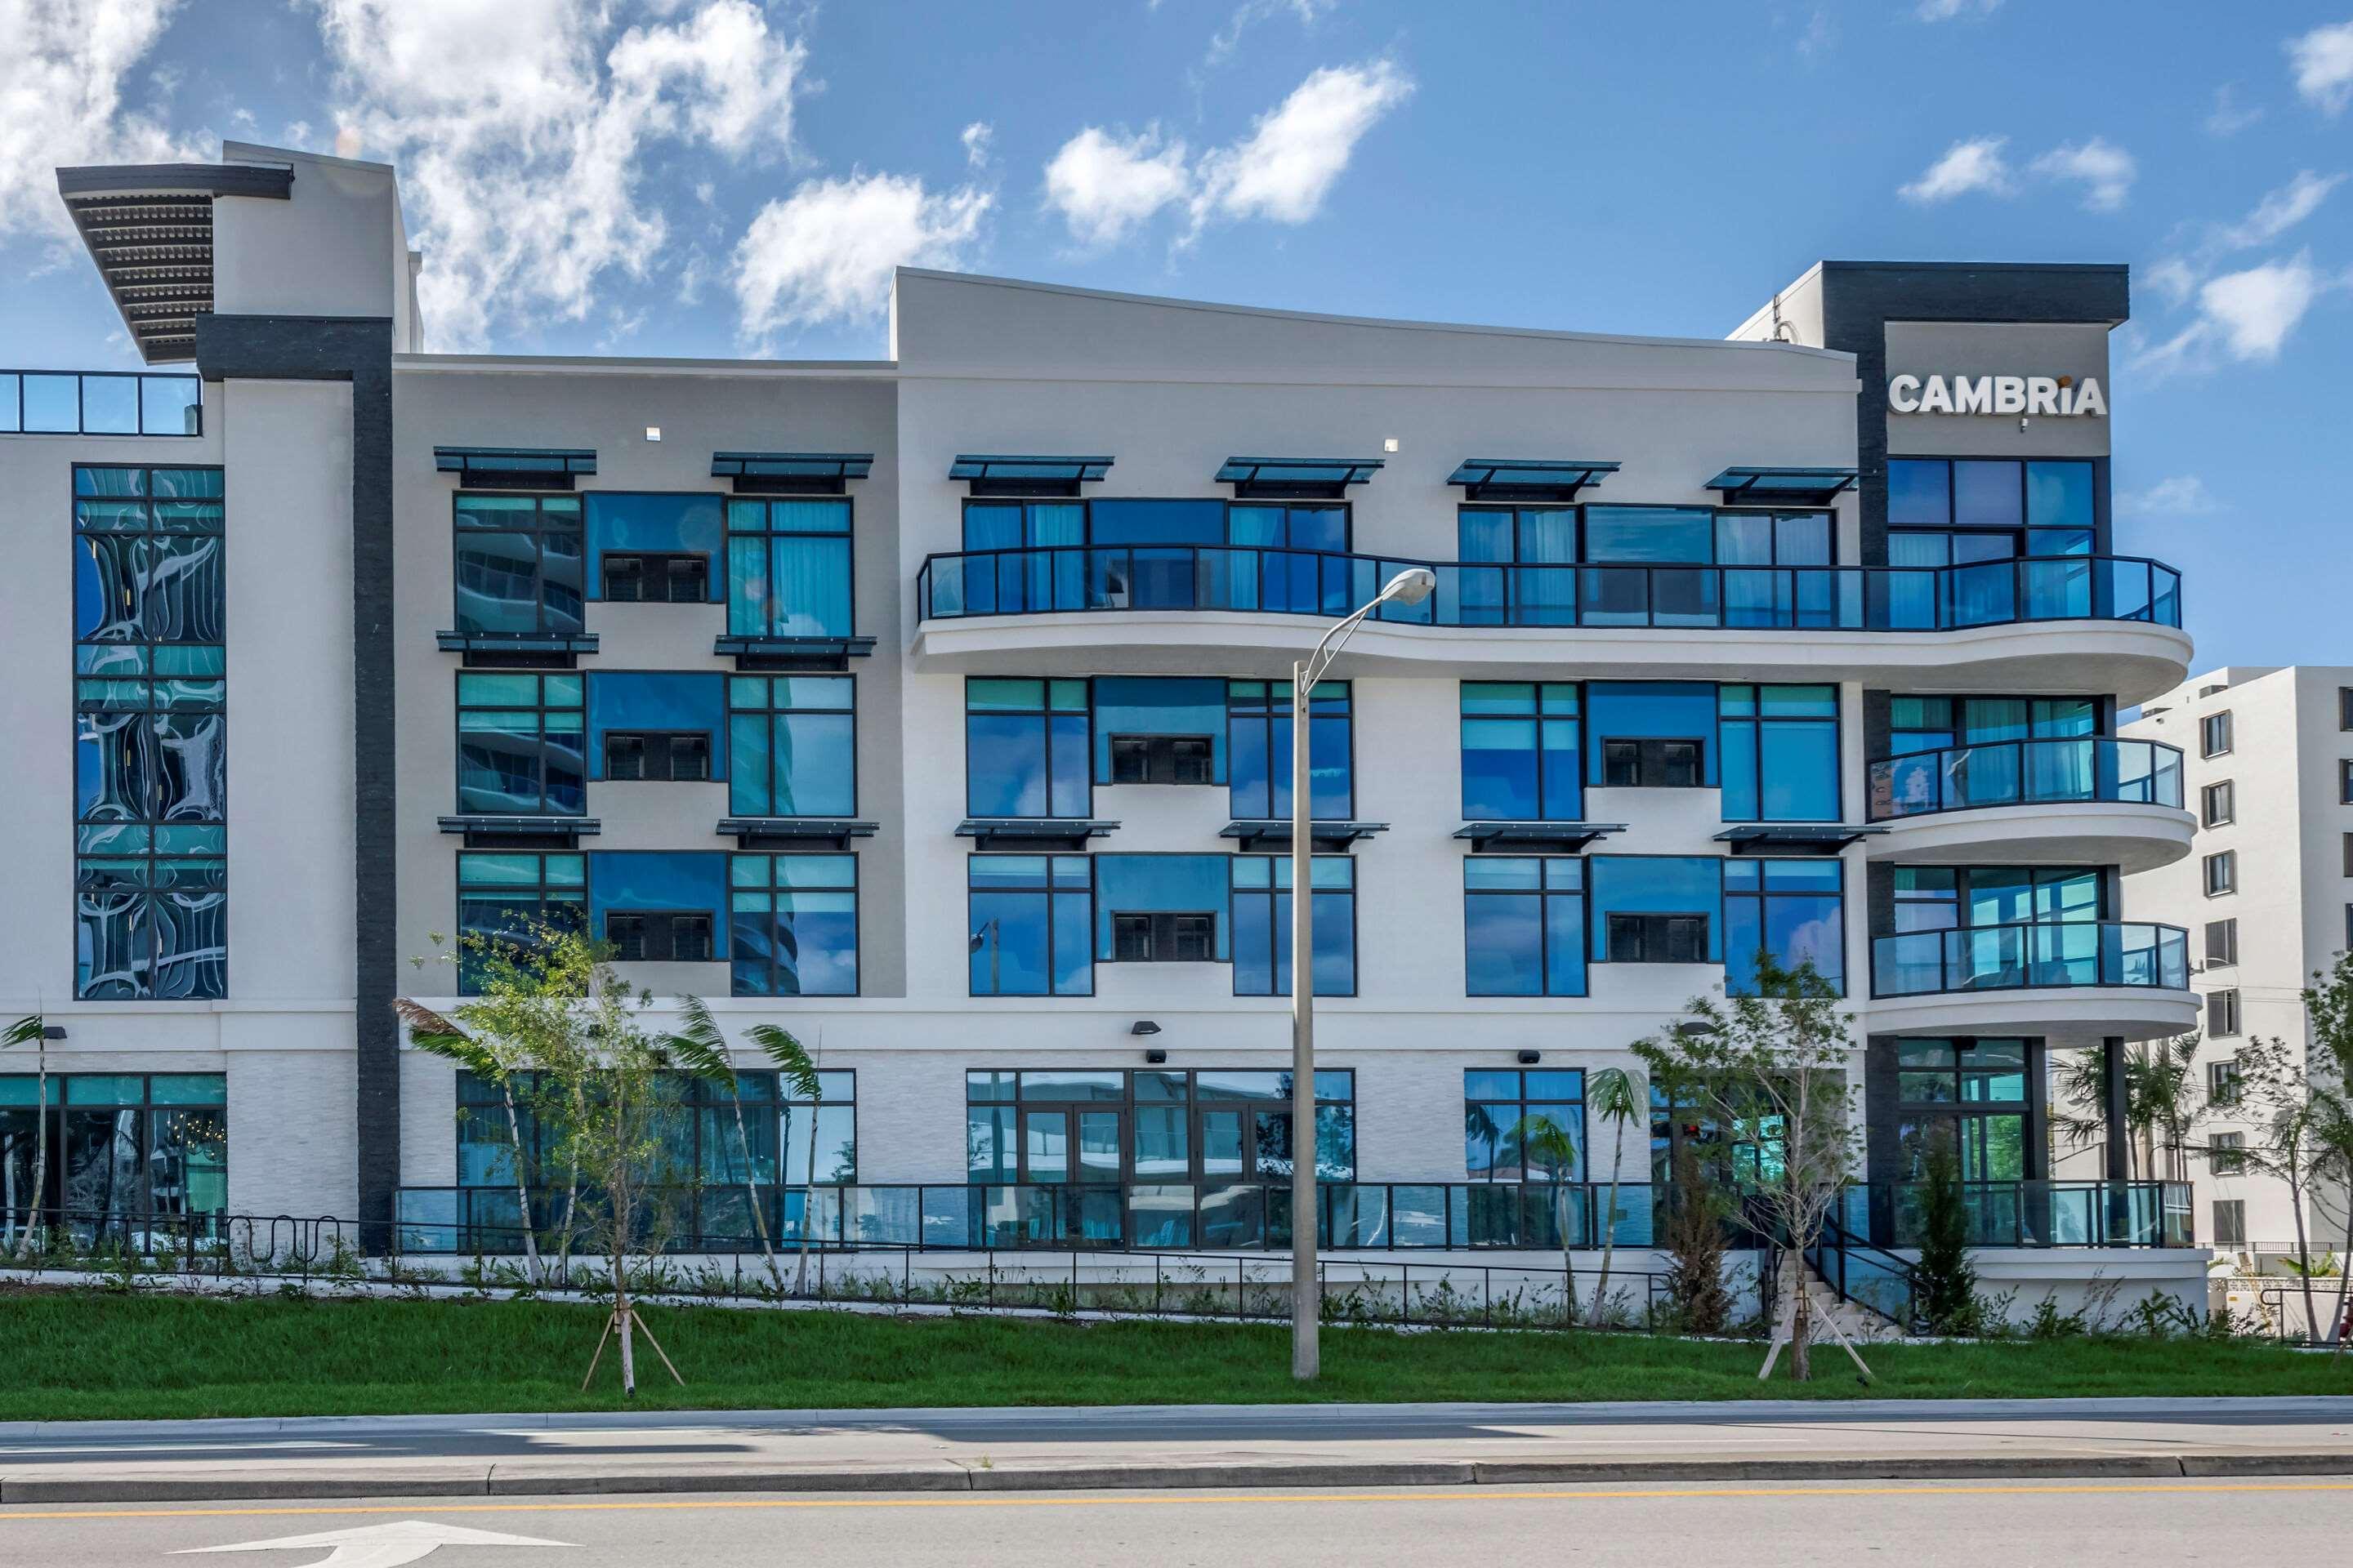
[[1873,860],[1939,865],[2118,865],[2127,875],[2191,853],[2181,750],[2071,736],[1948,745],[1873,762]]

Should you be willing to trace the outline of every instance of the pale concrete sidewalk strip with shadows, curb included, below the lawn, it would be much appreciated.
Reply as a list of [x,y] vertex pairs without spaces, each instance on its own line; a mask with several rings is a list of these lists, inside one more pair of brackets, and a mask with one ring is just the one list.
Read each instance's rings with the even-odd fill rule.
[[0,1507],[2353,1474],[2348,1399],[1106,1406],[0,1425]]

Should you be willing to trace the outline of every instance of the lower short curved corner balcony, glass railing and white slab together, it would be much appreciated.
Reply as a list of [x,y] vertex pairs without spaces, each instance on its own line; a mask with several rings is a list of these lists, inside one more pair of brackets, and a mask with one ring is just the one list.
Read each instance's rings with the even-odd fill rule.
[[2198,1025],[2191,938],[2148,922],[1904,931],[1871,943],[1873,1034],[2153,1039]]

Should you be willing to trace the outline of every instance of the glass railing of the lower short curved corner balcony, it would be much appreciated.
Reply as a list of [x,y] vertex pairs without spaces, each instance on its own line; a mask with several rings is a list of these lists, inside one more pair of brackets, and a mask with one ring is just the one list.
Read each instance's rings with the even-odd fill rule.
[[2042,926],[1904,931],[1871,943],[1873,997],[2045,985],[2186,992],[2191,985],[2191,938],[2181,926],[2075,919]]

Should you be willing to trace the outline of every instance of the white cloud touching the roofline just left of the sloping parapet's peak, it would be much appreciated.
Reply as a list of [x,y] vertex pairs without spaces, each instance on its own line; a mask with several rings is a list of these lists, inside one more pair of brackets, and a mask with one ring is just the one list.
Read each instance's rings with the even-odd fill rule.
[[962,266],[993,202],[972,186],[932,193],[906,174],[802,183],[762,207],[734,249],[744,339],[880,317],[892,268]]

